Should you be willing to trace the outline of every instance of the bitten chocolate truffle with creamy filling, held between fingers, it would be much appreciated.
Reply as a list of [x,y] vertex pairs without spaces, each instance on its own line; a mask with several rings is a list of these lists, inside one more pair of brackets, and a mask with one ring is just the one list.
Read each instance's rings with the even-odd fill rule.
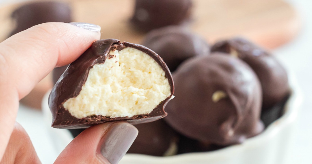
[[52,127],[152,122],[167,115],[163,108],[172,95],[171,73],[155,52],[116,39],[98,40],[52,88]]

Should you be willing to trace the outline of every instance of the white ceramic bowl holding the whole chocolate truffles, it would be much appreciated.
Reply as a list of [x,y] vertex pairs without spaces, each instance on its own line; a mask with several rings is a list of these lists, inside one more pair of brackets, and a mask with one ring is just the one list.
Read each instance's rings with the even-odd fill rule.
[[[211,152],[186,153],[169,157],[153,157],[141,154],[126,154],[121,164],[284,164],[290,152],[290,144],[295,130],[299,105],[300,89],[290,78],[292,94],[285,106],[282,117],[271,123],[264,132],[247,139],[240,145],[229,146]],[[65,129],[51,127],[52,115],[48,107],[47,93],[42,101],[42,110],[46,117],[51,136],[60,153],[73,139]]]

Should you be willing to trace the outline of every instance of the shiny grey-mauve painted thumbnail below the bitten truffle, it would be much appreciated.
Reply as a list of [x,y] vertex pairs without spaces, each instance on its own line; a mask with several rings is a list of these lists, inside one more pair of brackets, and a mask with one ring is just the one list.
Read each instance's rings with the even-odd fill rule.
[[135,138],[138,129],[126,122],[118,122],[110,126],[104,136],[101,154],[111,163],[118,163],[126,154]]

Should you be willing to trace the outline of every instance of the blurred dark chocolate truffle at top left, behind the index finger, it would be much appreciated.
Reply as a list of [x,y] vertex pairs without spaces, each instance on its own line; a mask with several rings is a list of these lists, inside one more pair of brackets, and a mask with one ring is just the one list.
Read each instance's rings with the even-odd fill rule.
[[72,22],[71,8],[63,2],[30,2],[17,8],[11,15],[17,27],[10,36],[46,22]]

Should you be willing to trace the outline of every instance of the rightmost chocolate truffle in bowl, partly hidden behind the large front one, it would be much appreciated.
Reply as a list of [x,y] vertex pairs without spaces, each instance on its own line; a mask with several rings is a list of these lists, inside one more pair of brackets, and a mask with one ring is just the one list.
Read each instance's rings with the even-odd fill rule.
[[258,76],[263,94],[262,110],[266,111],[281,102],[289,93],[285,68],[270,52],[243,38],[217,42],[212,51],[227,52],[246,62]]

